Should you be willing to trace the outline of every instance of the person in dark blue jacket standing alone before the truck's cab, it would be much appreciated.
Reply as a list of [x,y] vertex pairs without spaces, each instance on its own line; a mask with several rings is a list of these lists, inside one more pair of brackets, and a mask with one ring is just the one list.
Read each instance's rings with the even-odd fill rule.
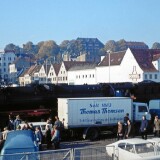
[[148,127],[148,121],[146,119],[146,116],[142,116],[142,121],[140,126],[142,139],[147,139],[147,127]]

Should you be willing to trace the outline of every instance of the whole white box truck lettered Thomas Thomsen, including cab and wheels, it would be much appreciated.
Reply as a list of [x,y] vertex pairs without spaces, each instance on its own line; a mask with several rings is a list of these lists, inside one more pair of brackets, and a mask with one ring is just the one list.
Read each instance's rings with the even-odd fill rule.
[[143,115],[150,119],[147,104],[127,97],[58,98],[59,119],[78,137],[96,139],[106,131],[116,132],[126,113],[132,122],[140,122]]

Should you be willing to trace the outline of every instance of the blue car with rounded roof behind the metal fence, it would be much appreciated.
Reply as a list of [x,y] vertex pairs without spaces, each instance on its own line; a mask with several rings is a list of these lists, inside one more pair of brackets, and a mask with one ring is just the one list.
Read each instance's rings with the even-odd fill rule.
[[[25,153],[39,151],[35,136],[31,130],[16,130],[8,132],[7,139],[1,150],[1,160],[22,159]],[[22,154],[17,154],[22,153]],[[7,155],[7,154],[14,154]],[[37,159],[37,154],[30,154],[28,159]]]

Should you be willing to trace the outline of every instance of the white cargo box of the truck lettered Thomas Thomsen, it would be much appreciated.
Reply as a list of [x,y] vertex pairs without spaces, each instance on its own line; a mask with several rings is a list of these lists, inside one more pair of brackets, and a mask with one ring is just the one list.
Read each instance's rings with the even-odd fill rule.
[[123,121],[126,113],[132,115],[132,100],[122,97],[60,98],[58,116],[65,119],[66,128],[92,125],[108,126]]

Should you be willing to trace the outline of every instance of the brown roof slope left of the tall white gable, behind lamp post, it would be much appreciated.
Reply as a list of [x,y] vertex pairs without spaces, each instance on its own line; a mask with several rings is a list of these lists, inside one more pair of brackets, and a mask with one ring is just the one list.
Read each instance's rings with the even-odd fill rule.
[[[110,53],[110,66],[120,65],[126,51]],[[98,66],[109,66],[109,54],[107,54]]]

